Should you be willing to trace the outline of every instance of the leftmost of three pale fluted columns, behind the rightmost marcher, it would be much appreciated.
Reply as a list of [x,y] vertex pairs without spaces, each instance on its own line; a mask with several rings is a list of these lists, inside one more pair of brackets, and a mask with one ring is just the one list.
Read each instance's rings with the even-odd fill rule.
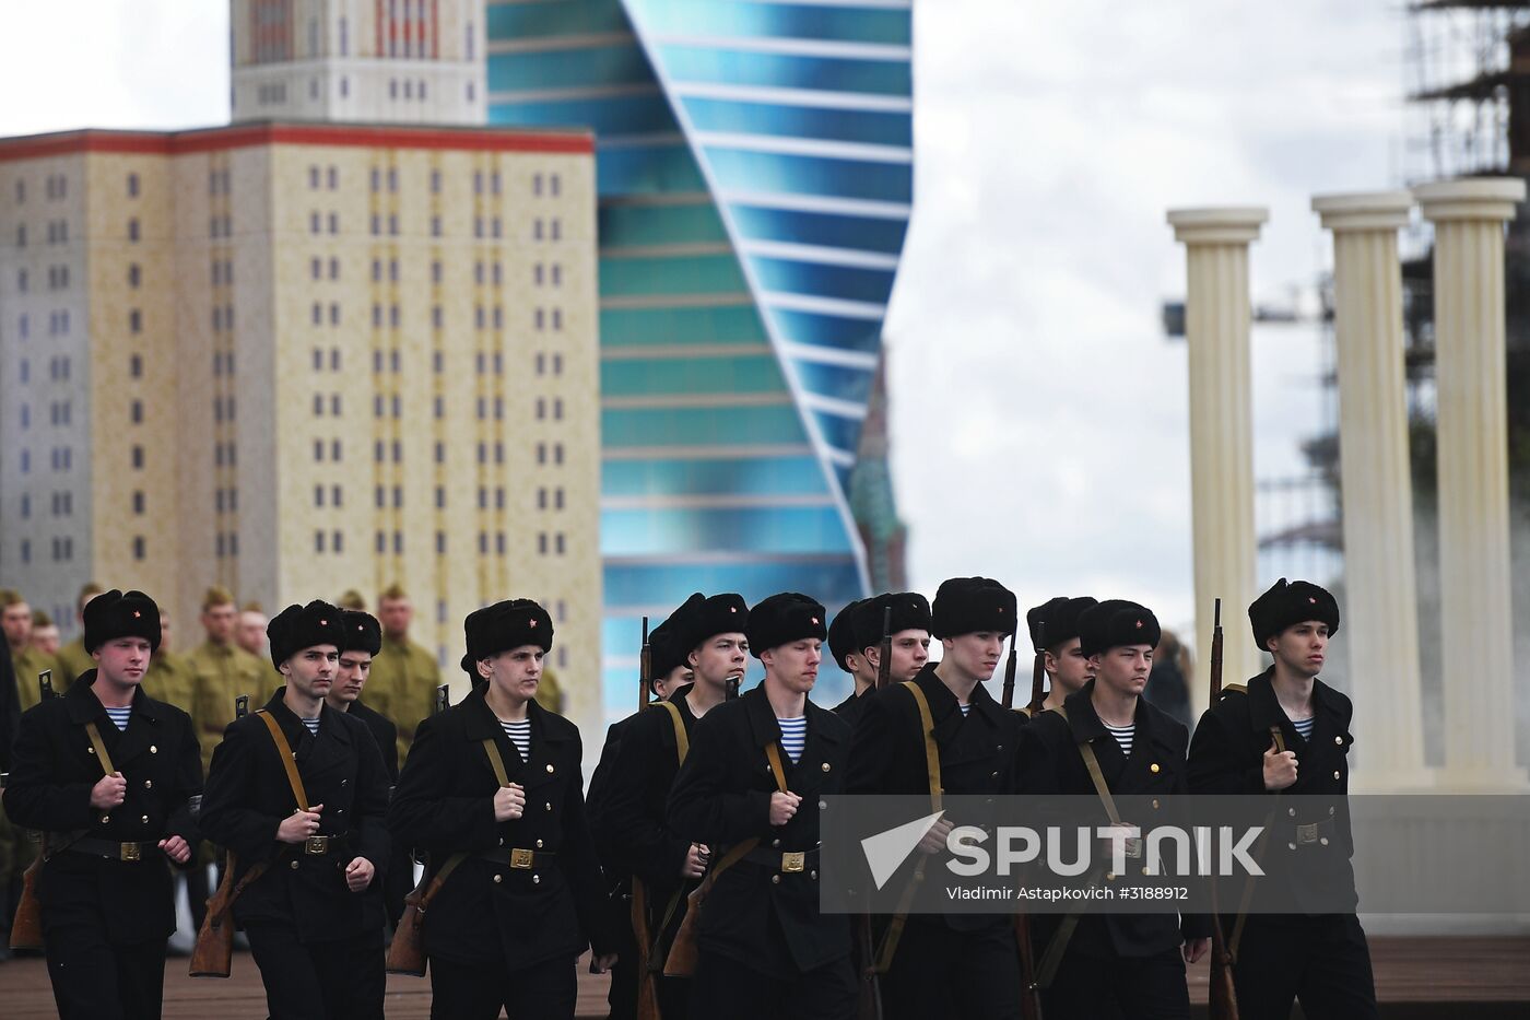
[[1206,705],[1212,603],[1222,600],[1222,682],[1261,669],[1248,633],[1259,594],[1253,533],[1253,404],[1248,368],[1248,245],[1270,217],[1264,208],[1169,211],[1184,244],[1184,334],[1190,348],[1190,525],[1195,550],[1196,677],[1190,698]]

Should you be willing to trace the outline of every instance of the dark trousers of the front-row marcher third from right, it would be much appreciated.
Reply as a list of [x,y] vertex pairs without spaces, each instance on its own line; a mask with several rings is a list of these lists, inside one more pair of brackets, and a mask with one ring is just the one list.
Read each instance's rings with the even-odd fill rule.
[[1021,953],[1008,919],[1004,927],[953,931],[910,917],[881,977],[881,1011],[887,1020],[1019,1020],[1019,988]]

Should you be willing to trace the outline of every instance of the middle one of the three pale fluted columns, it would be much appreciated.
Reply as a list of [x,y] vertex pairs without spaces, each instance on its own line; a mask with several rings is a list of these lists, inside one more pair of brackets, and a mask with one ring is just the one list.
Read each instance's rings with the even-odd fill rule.
[[[1356,787],[1429,786],[1418,669],[1414,490],[1403,386],[1403,271],[1397,231],[1408,191],[1313,199],[1334,231],[1339,458],[1345,614],[1357,726]],[[1317,580],[1316,577],[1313,580]]]

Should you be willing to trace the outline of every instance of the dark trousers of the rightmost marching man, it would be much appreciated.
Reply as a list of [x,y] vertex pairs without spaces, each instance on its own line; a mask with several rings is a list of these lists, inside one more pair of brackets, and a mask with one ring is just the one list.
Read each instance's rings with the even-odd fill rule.
[[1379,1015],[1371,950],[1354,914],[1250,916],[1233,988],[1242,1020],[1287,1020],[1297,999],[1307,1020]]

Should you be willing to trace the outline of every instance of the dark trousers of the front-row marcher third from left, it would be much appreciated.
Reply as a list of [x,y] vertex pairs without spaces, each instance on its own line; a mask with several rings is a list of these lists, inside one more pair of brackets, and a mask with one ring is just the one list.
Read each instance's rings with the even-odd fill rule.
[[571,1020],[578,999],[574,957],[511,971],[503,963],[430,960],[431,1020]]

